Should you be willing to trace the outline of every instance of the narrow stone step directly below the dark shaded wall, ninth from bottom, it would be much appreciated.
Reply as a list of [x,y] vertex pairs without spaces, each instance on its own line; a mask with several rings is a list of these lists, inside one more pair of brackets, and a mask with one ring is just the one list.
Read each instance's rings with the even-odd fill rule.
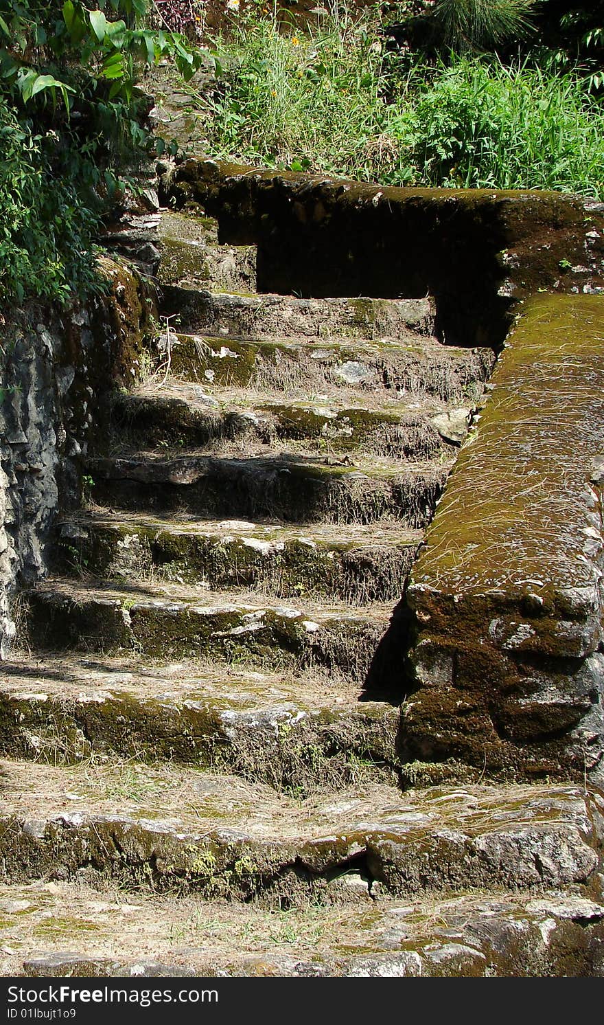
[[425,299],[300,299],[294,295],[236,295],[166,285],[164,316],[178,316],[187,333],[220,337],[366,338],[413,340],[432,335],[434,301]]

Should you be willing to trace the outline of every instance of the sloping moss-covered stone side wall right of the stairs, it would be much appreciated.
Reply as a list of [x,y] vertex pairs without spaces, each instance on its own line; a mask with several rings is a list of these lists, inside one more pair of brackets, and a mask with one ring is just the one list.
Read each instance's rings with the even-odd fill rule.
[[527,303],[406,591],[409,756],[604,779],[604,298]]

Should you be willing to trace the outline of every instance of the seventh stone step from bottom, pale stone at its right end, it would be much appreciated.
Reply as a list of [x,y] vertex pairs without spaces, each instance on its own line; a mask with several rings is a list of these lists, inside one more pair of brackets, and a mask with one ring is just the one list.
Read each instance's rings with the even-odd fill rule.
[[[354,452],[391,459],[433,459],[467,436],[471,408],[447,411],[441,403],[422,408],[348,405],[338,396],[275,401],[247,392],[226,393],[196,384],[150,383],[115,397],[113,420],[121,445],[133,449],[211,449],[245,446],[261,454],[267,445],[294,441],[326,453]],[[446,437],[446,440],[444,436]],[[448,442],[448,444],[447,444]],[[233,452],[234,454],[234,452]]]

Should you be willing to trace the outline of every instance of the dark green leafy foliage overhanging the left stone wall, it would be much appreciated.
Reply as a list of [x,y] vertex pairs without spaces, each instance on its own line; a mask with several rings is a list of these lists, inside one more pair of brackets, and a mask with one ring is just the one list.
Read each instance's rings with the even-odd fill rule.
[[101,287],[95,230],[154,147],[140,72],[171,56],[188,79],[202,57],[146,15],[147,0],[0,0],[0,302]]

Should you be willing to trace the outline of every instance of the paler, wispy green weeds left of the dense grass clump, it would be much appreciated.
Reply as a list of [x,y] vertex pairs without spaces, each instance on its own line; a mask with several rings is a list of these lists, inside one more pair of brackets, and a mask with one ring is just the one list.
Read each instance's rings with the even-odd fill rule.
[[387,84],[375,24],[325,17],[310,36],[242,20],[215,41],[218,88],[205,107],[209,152],[268,166],[404,178],[387,132]]

